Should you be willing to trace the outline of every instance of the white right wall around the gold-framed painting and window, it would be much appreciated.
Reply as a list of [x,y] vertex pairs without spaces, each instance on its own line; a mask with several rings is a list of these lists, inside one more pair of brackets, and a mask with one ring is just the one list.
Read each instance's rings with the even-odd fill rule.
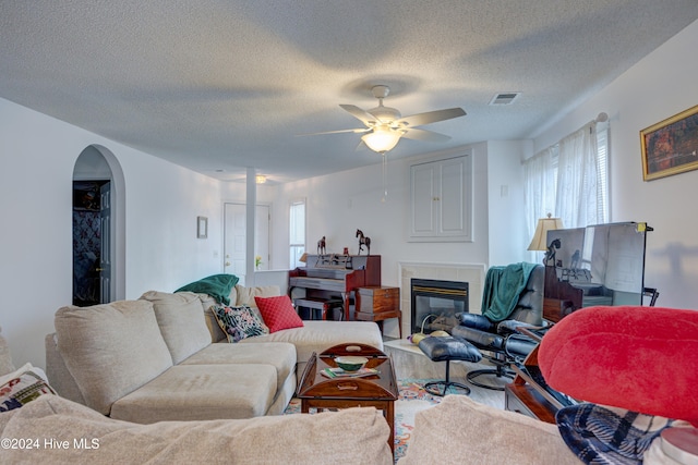
[[698,22],[535,138],[538,151],[601,111],[611,117],[611,220],[654,228],[645,284],[658,287],[658,305],[679,308],[698,308],[698,171],[643,182],[639,132],[698,103],[696,44]]

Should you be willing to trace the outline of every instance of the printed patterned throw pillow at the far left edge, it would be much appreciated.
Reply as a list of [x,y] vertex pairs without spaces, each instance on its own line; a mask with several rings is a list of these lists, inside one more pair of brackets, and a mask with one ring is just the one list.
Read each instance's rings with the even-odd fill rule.
[[56,391],[48,386],[46,375],[40,368],[26,364],[0,378],[0,412],[20,408],[46,394],[56,394]]

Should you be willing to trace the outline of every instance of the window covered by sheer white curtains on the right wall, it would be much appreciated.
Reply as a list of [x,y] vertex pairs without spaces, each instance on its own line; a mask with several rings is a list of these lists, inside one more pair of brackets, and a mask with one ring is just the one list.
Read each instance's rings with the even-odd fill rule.
[[591,123],[524,163],[529,237],[547,213],[565,228],[609,222],[609,126]]

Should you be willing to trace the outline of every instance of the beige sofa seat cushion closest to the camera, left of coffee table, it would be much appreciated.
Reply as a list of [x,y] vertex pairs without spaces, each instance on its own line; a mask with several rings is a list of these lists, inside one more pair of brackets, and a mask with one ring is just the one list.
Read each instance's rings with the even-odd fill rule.
[[252,418],[266,414],[276,386],[270,365],[176,365],[115,402],[110,416],[141,424]]

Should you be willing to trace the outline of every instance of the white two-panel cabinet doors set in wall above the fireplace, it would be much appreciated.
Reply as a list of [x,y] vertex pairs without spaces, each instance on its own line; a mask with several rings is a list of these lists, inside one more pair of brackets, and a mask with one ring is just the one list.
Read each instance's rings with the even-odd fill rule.
[[471,206],[470,155],[410,167],[410,241],[471,241]]

